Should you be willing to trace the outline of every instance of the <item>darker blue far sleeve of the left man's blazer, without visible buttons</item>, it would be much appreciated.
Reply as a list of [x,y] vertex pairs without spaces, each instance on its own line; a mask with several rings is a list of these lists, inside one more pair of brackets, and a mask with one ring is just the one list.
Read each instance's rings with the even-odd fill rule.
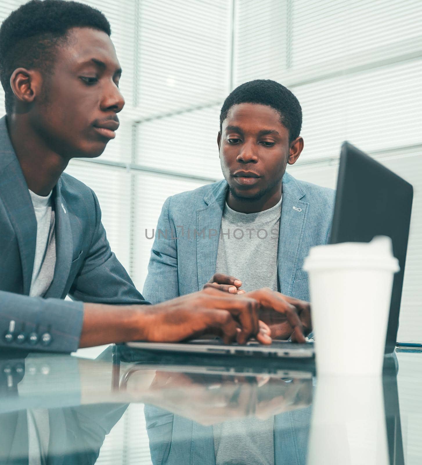
[[130,279],[116,255],[111,252],[97,196],[95,230],[83,264],[74,279],[69,296],[74,300],[102,304],[148,304]]

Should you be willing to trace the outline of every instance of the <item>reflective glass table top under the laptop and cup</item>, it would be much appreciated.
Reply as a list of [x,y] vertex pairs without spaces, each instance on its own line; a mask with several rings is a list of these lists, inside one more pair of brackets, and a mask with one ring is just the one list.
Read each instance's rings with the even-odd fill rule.
[[0,464],[422,463],[422,351],[382,377],[110,346],[0,354]]

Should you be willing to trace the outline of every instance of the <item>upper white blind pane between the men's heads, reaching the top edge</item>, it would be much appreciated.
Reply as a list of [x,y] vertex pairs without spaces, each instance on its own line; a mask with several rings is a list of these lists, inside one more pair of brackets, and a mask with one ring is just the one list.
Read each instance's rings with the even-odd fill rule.
[[142,120],[224,98],[228,7],[225,0],[139,2],[136,80]]

